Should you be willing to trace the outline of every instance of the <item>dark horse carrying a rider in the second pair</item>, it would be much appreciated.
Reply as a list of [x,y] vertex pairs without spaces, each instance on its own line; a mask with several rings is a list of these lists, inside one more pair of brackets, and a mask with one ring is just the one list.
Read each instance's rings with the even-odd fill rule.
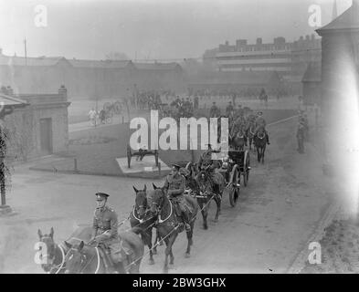
[[[174,254],[172,252],[172,246],[177,238],[177,235],[184,230],[184,227],[179,224],[177,215],[174,212],[174,203],[170,201],[167,195],[164,193],[163,188],[157,188],[153,183],[153,202],[151,211],[158,216],[157,230],[160,236],[163,238],[166,245],[164,251],[164,273],[168,273],[168,255],[170,255],[169,265],[174,265]],[[189,257],[191,253],[191,245],[193,245],[193,230],[195,226],[195,217],[198,211],[198,205],[195,199],[185,195],[186,205],[191,211],[190,226],[191,230],[186,231],[187,235],[187,248],[185,251],[185,257]]]

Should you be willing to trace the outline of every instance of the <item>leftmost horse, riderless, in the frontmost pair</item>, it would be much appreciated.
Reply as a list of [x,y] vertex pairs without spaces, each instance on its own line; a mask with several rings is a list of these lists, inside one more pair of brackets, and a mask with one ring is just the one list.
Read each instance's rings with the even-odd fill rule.
[[[68,242],[74,244],[81,240],[90,240],[92,234],[92,227],[90,225],[79,226],[75,232],[69,236]],[[54,241],[54,228],[51,227],[48,235],[43,235],[41,230],[37,230],[39,241],[46,245],[46,255],[42,255],[42,258],[46,258],[46,263],[41,267],[48,274],[63,274],[65,272],[65,256],[69,249],[66,245],[56,244]]]

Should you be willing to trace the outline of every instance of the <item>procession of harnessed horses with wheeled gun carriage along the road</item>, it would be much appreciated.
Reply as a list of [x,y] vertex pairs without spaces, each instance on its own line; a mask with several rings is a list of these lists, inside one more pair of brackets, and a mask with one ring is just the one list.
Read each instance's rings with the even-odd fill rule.
[[[42,255],[45,262],[41,265],[44,271],[51,274],[139,273],[143,256],[149,255],[149,264],[153,265],[157,246],[165,244],[163,271],[168,273],[169,266],[174,264],[172,246],[177,235],[183,231],[187,236],[185,256],[189,257],[198,211],[202,214],[203,228],[207,229],[207,215],[212,201],[216,203],[215,222],[218,221],[225,196],[228,196],[230,205],[235,207],[241,186],[248,185],[250,152],[257,151],[258,162],[263,163],[266,145],[269,144],[262,112],[256,115],[253,110],[248,107],[242,109],[240,105],[235,109],[229,102],[226,115],[221,115],[214,102],[210,117],[228,118],[231,127],[228,132],[227,153],[224,155],[219,150],[213,150],[208,144],[208,150],[202,154],[200,162],[175,165],[179,169],[179,175],[185,178],[185,190],[181,195],[188,212],[188,230],[185,228],[185,221],[177,212],[175,200],[167,195],[164,187],[153,184],[152,190],[149,190],[144,185],[142,190],[138,190],[133,186],[134,205],[125,220],[129,221],[131,228],[118,234],[121,243],[117,251],[121,258],[120,269],[113,267],[109,246],[93,240],[92,226],[89,224],[79,226],[68,240],[59,244],[54,240],[53,228],[47,235],[38,230],[39,241],[46,246],[42,251],[45,254]],[[218,140],[219,137],[220,125]],[[125,221],[119,223],[119,227]],[[147,252],[145,245],[148,246]]]

